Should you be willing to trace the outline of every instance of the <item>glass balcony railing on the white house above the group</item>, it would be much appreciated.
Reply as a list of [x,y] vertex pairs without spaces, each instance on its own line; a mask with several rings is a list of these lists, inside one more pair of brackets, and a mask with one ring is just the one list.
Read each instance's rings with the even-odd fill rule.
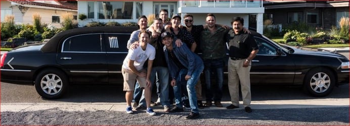
[[214,7],[214,8],[262,8],[263,0],[256,1],[222,1],[222,0],[197,0],[197,1],[179,1],[179,7]]

